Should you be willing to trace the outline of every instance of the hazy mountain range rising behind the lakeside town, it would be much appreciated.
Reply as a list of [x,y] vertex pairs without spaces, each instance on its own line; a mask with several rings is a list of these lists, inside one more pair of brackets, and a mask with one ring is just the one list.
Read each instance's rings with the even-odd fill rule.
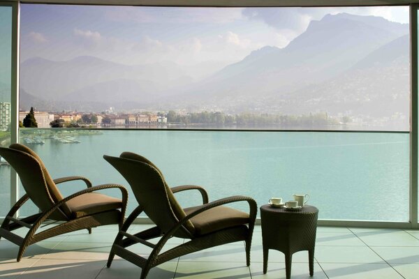
[[[193,77],[172,62],[127,66],[91,56],[34,58],[21,64],[20,87],[60,110],[79,104],[78,110],[195,108],[378,117],[381,107],[391,108],[384,116],[408,115],[408,34],[408,24],[382,17],[326,15],[286,47],[262,47],[237,63],[214,66],[212,75]],[[21,107],[29,105],[23,97]]]

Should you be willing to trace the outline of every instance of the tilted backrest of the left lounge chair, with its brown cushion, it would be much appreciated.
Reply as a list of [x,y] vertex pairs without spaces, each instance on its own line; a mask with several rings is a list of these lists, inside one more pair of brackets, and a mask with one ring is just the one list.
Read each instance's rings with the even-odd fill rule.
[[[11,144],[9,149],[0,148],[0,153],[19,174],[20,181],[29,198],[41,211],[47,211],[63,199],[41,158],[34,151],[22,144]],[[68,220],[71,211],[66,204],[55,211],[50,218]]]

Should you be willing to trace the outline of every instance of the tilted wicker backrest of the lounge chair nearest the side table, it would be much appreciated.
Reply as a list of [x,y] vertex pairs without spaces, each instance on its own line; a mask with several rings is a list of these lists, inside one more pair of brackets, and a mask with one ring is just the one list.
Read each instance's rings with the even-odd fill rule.
[[[119,158],[106,155],[103,158],[124,176],[138,204],[163,232],[168,232],[186,216],[163,174],[152,162],[131,152],[124,152]],[[187,221],[175,236],[191,238],[193,234],[194,227],[191,221]]]

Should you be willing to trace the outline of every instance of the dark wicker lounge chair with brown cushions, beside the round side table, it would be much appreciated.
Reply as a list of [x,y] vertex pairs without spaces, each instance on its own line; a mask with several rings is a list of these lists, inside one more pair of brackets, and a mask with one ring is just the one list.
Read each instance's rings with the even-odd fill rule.
[[[138,207],[125,220],[122,229],[113,243],[108,259],[108,267],[115,255],[122,257],[142,268],[140,278],[146,278],[152,267],[170,259],[206,248],[235,241],[245,241],[247,266],[250,265],[250,247],[257,206],[251,197],[233,196],[208,203],[208,196],[200,186],[177,186],[169,188],[160,170],[146,158],[135,153],[124,152],[121,156],[103,156],[124,176],[130,184]],[[198,190],[203,204],[182,209],[173,193],[184,190]],[[249,203],[249,213],[238,211],[223,204],[232,202]],[[156,225],[136,234],[127,230],[141,212]],[[161,236],[154,244],[149,239]],[[183,244],[166,252],[161,252],[166,241],[172,236],[182,239]],[[136,243],[152,248],[148,257],[141,257],[127,249]]]

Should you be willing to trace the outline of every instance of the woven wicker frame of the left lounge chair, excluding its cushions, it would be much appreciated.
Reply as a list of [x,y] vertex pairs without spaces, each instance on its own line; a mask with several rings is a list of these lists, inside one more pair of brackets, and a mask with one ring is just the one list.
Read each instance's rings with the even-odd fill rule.
[[[55,184],[58,183],[76,180],[84,181],[84,183],[87,185],[87,189],[80,190],[73,195],[62,198],[55,202],[54,199],[51,198],[52,194],[49,192],[47,181],[45,179],[45,177],[49,176],[49,174],[45,173],[46,169],[43,167],[41,159],[39,159],[38,156],[35,157],[34,155],[31,155],[31,153],[34,154],[34,151],[31,151],[26,146],[13,144],[13,147],[15,148],[0,148],[0,155],[5,158],[8,163],[10,163],[10,165],[16,170],[17,174],[19,174],[24,189],[27,193],[21,197],[15,203],[15,205],[12,206],[6,218],[3,220],[3,223],[0,227],[0,238],[4,237],[5,239],[8,239],[9,241],[20,246],[19,252],[17,253],[17,262],[20,262],[20,259],[22,259],[22,255],[28,246],[38,241],[48,239],[52,236],[73,232],[79,229],[87,229],[88,232],[91,233],[92,227],[98,227],[100,225],[118,224],[119,227],[122,227],[126,202],[128,199],[128,192],[124,186],[117,184],[104,184],[92,187],[89,179],[86,179],[82,176],[68,176],[60,179],[54,179],[53,181],[49,181],[49,183],[52,183],[52,186],[54,187]],[[62,210],[63,206],[66,206],[66,203],[72,199],[80,198],[84,194],[93,193],[98,190],[108,188],[117,188],[121,191],[122,199],[119,202],[119,208],[106,211],[96,211],[94,213],[84,215],[80,218],[75,217],[71,211],[65,213]],[[45,197],[40,197],[42,195],[45,195]],[[29,199],[32,201],[36,200],[37,202],[43,202],[43,210],[39,208],[41,213],[36,213],[32,216],[22,218],[20,220],[13,218],[17,210],[20,209],[20,207]],[[50,202],[50,205],[48,206],[45,201]],[[87,204],[87,207],[89,207],[89,204]],[[58,219],[55,217],[58,217]],[[57,222],[58,225],[54,225],[49,229],[45,229],[42,232],[37,233],[37,229],[45,222],[45,220],[57,220],[59,222]],[[29,229],[24,237],[13,233],[15,229],[20,227],[27,227]]]

